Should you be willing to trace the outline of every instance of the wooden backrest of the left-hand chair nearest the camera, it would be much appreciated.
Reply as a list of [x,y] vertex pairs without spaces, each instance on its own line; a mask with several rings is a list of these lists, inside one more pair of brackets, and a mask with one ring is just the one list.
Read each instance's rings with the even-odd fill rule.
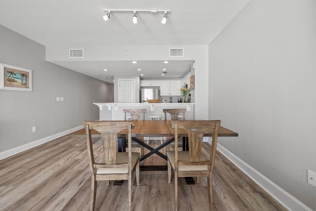
[[[131,128],[135,126],[135,122],[125,122],[125,121],[102,121],[102,122],[90,122],[84,121],[83,126],[85,128],[87,137],[87,147],[88,147],[88,157],[90,170],[93,174],[97,168],[113,168],[113,167],[128,167],[128,172],[130,172],[131,166]],[[97,130],[101,133],[103,142],[103,152],[105,163],[95,163],[94,153],[92,147],[91,129]],[[128,164],[117,164],[117,141],[118,132],[121,130],[128,130]],[[114,166],[115,165],[115,166]]]

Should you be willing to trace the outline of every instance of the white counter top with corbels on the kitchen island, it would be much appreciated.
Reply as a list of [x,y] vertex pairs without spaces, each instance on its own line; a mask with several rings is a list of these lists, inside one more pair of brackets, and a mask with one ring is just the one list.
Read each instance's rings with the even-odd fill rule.
[[158,106],[168,106],[168,107],[179,107],[186,106],[187,111],[191,110],[191,107],[195,105],[195,103],[93,103],[94,105],[99,106],[100,110],[103,107],[108,107],[109,111],[114,107],[114,110],[118,110],[118,106],[139,106],[139,107],[151,107],[151,111],[155,111],[155,107]]

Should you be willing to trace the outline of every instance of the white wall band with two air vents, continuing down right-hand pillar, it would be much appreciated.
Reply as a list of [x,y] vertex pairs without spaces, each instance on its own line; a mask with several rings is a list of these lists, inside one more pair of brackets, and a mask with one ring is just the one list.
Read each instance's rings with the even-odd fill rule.
[[[169,57],[169,48],[184,48],[184,57]],[[83,48],[84,58],[80,61],[122,61],[122,60],[195,60],[195,109],[196,119],[205,119],[208,114],[208,46],[102,46],[102,45],[76,45],[76,46],[46,46],[47,61],[73,60],[69,58],[70,48]],[[128,49],[128,53],[126,53]]]

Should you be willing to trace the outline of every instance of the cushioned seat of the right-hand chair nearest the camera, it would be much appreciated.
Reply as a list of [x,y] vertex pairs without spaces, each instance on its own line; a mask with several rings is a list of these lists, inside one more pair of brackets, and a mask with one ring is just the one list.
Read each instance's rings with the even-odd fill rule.
[[[168,160],[170,161],[170,164],[172,168],[175,167],[175,158],[174,158],[174,151],[168,151],[167,152]],[[189,161],[190,156],[188,151],[179,151],[178,152],[178,161]],[[200,161],[206,161],[205,157],[200,155],[199,157]],[[200,171],[200,170],[208,170],[207,165],[205,166],[189,166],[189,165],[178,165],[178,171]]]

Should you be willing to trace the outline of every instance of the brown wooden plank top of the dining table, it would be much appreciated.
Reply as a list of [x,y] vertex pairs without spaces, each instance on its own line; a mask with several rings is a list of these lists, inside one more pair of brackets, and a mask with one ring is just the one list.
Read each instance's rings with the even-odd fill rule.
[[[118,135],[124,136],[127,134],[127,129],[119,132]],[[69,134],[72,136],[85,135],[85,129],[80,129]],[[92,136],[99,136],[100,133],[96,130],[91,130]],[[186,136],[188,132],[184,129],[179,128],[179,136]],[[145,120],[135,121],[135,127],[132,129],[132,136],[150,136],[150,137],[171,137],[174,136],[174,128],[171,127],[171,121],[167,120]],[[212,136],[212,132],[204,133],[204,136]],[[220,126],[218,129],[219,137],[233,137],[238,136],[237,132]]]

